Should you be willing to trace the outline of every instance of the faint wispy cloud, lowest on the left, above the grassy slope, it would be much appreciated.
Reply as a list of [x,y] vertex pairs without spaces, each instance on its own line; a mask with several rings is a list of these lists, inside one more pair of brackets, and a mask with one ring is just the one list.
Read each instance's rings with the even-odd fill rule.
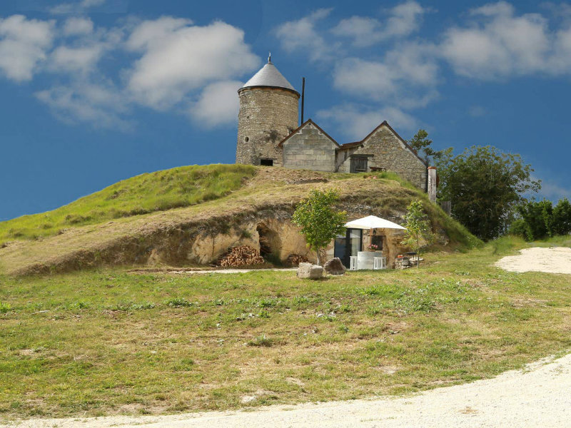
[[90,123],[96,128],[119,131],[131,128],[131,123],[122,118],[128,110],[125,98],[110,83],[82,81],[70,86],[54,86],[35,95],[66,123]]

